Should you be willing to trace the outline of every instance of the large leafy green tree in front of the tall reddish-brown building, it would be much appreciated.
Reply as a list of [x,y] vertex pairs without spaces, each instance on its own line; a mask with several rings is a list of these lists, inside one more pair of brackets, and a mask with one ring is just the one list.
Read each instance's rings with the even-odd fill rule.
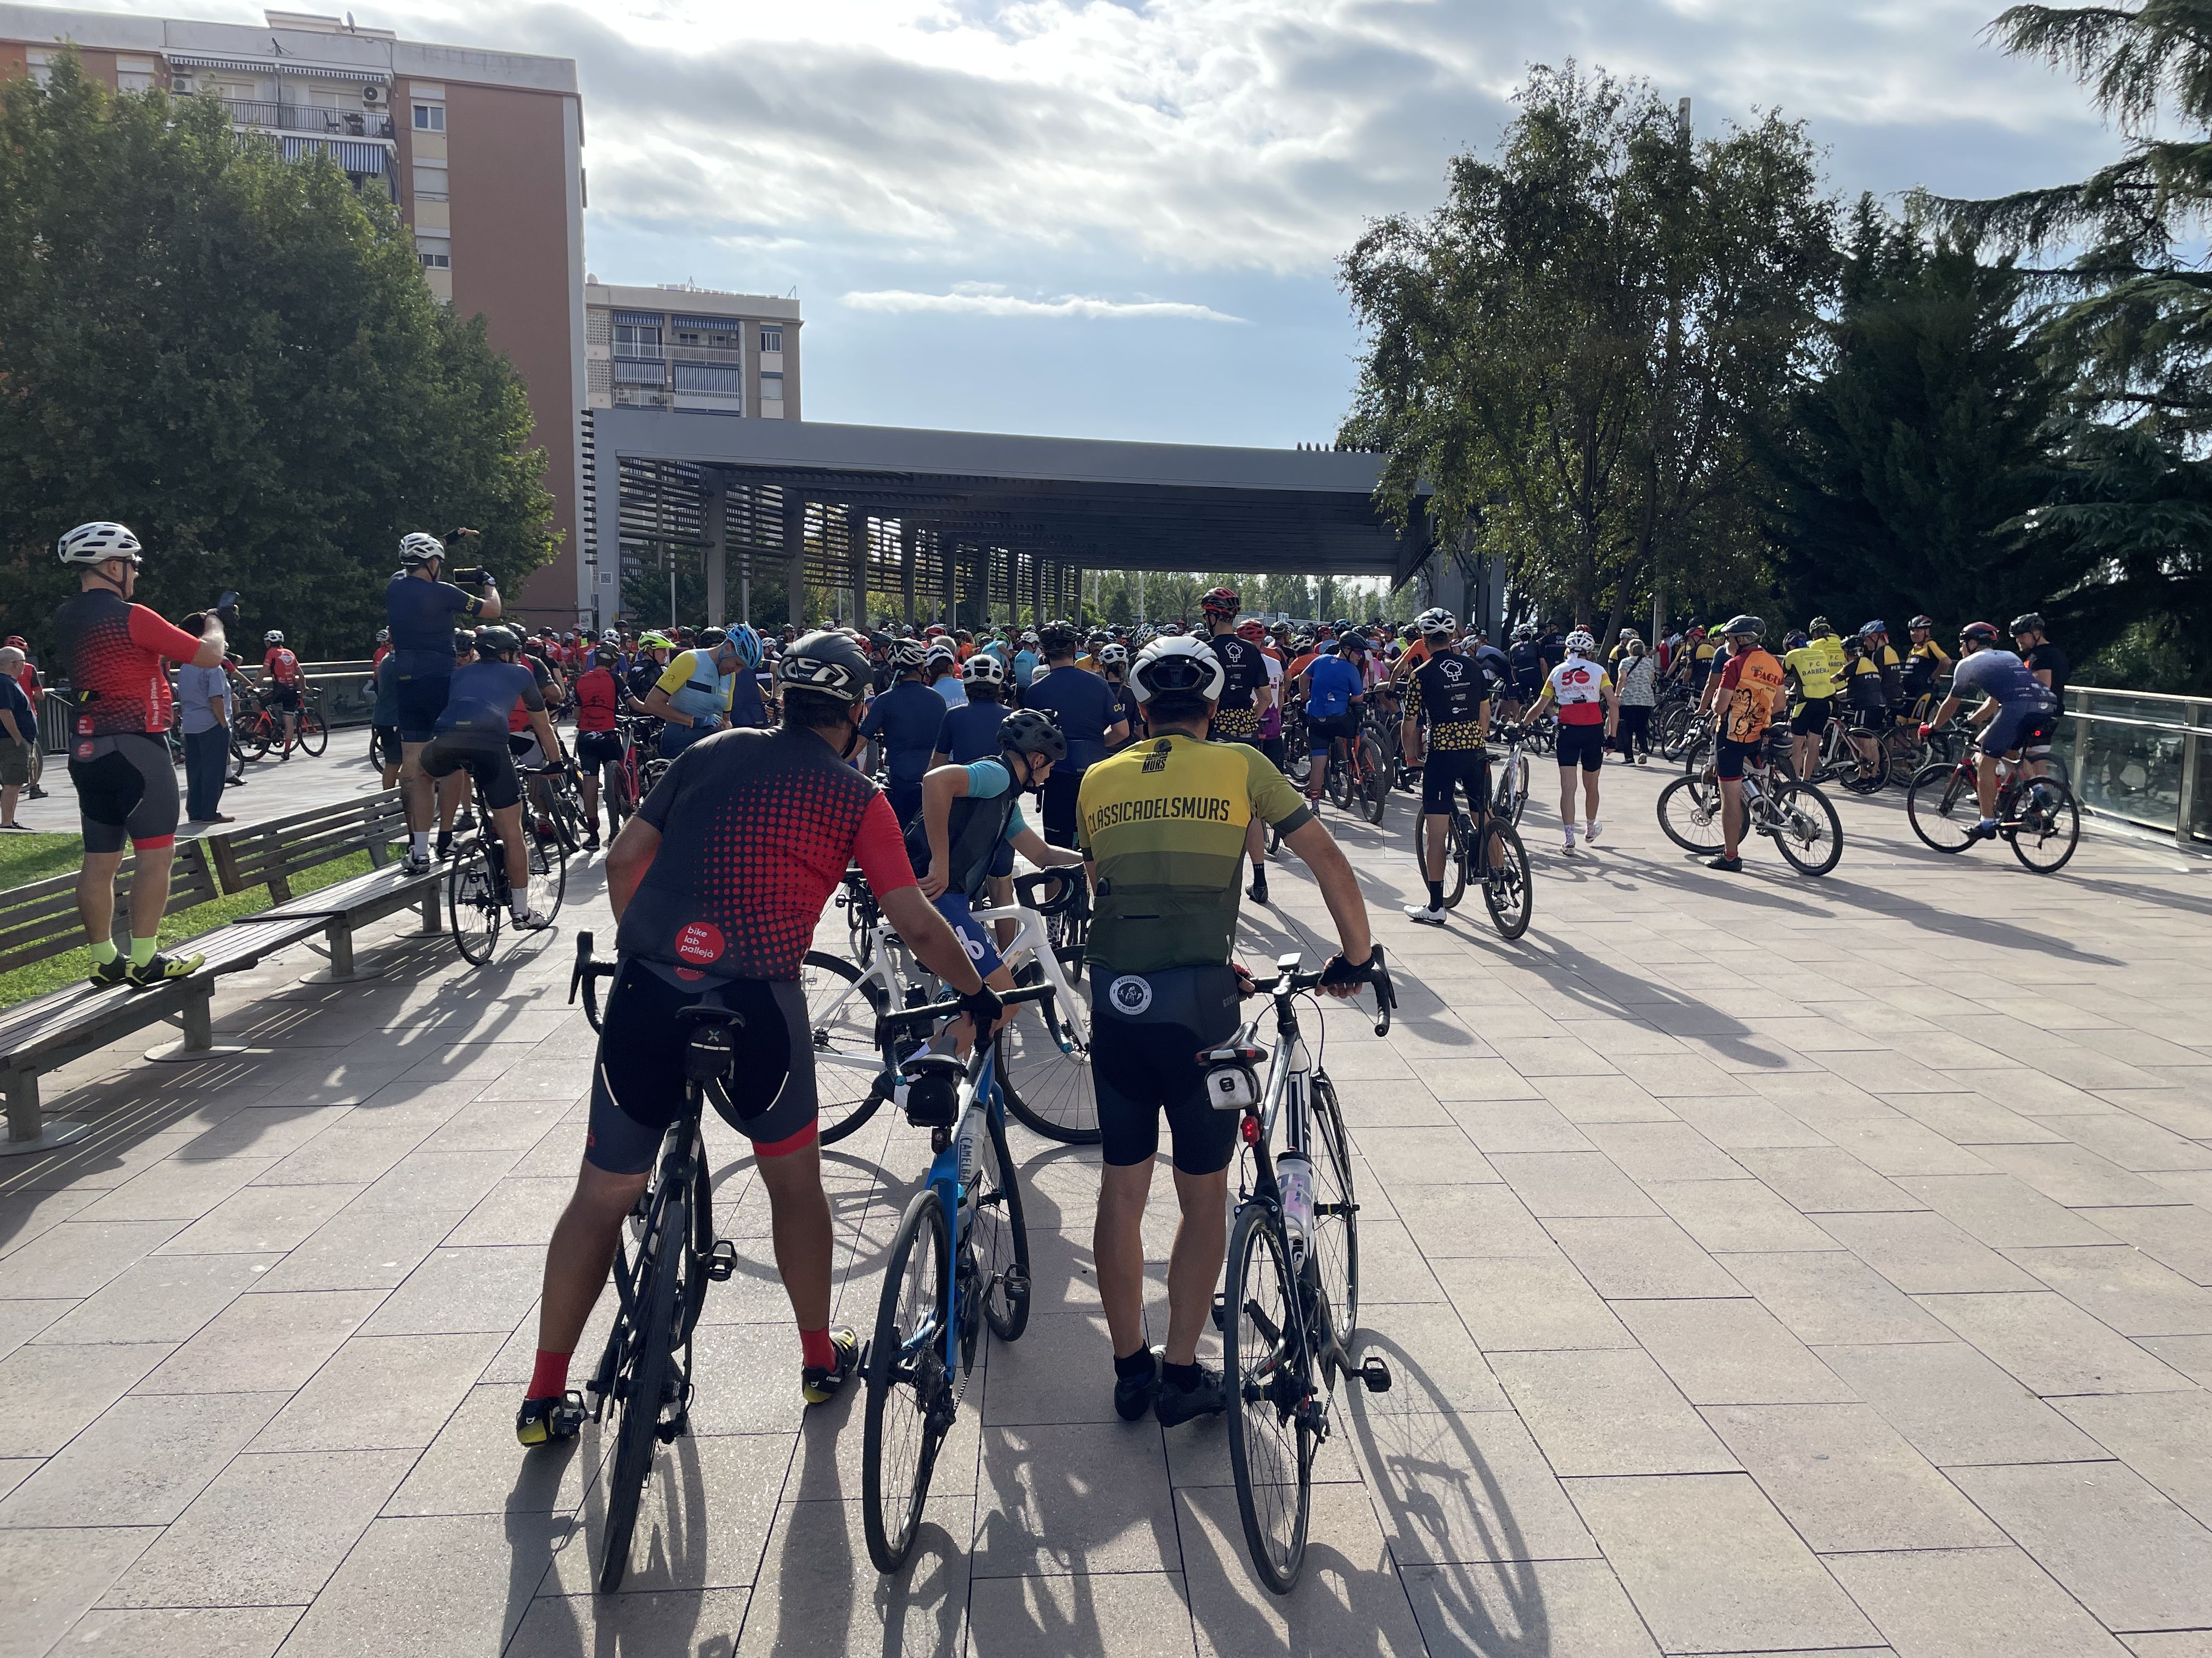
[[73,524],[146,544],[170,615],[237,588],[301,654],[365,654],[398,537],[456,524],[509,586],[553,555],[529,400],[422,285],[392,206],[221,104],[64,55],[0,84],[0,617],[42,641]]

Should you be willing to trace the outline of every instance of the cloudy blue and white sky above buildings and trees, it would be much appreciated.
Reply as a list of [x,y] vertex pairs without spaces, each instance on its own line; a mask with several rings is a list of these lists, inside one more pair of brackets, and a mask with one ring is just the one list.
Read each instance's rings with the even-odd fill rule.
[[[97,0],[95,0],[97,2]],[[305,0],[294,0],[305,7]],[[259,22],[208,0],[104,9]],[[1489,153],[1528,64],[1778,108],[1829,186],[1980,197],[2117,146],[1997,0],[418,0],[365,27],[577,60],[602,281],[803,305],[810,420],[1325,442],[1336,259]]]

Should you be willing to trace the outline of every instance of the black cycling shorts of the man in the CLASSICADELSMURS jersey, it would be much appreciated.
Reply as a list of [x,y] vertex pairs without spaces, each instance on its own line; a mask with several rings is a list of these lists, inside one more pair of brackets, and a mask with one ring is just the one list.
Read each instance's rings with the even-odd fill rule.
[[1091,968],[1091,1079],[1106,1163],[1126,1169],[1159,1154],[1159,1116],[1175,1136],[1175,1167],[1217,1174],[1237,1152],[1237,1112],[1206,1096],[1201,1048],[1237,1035],[1230,966],[1113,973]]

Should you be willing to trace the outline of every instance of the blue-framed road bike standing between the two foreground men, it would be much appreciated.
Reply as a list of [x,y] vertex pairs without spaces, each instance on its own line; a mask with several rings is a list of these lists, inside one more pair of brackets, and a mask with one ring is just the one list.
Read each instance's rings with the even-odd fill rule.
[[[1002,1001],[1051,997],[1053,988],[1040,984]],[[916,1030],[956,1012],[958,1001],[938,1001],[885,1024]],[[914,1552],[982,1326],[1002,1342],[1029,1326],[1029,1229],[995,1068],[989,1041],[978,1041],[967,1061],[925,1052],[900,1068],[907,1121],[929,1130],[931,1163],[891,1238],[876,1329],[860,1353],[860,1514],[878,1572],[896,1572]]]

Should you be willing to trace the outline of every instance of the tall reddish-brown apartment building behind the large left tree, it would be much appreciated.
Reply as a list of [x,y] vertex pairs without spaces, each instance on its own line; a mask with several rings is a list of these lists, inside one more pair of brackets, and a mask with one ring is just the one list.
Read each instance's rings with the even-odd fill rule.
[[533,440],[560,557],[518,610],[591,612],[580,555],[584,369],[584,111],[575,62],[400,40],[345,18],[265,13],[268,27],[0,2],[0,77],[40,77],[66,44],[117,91],[166,86],[219,97],[241,130],[285,155],[327,153],[400,210],[422,281],[462,314],[482,312],[529,382]]

